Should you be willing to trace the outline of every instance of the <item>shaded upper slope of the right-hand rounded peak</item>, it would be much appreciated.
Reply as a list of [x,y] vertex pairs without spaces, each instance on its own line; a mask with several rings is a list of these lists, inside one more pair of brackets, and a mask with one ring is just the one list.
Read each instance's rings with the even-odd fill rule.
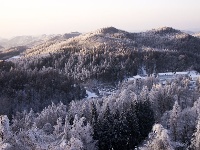
[[192,35],[170,27],[135,34],[136,42],[142,46],[169,51],[200,53],[200,40]]

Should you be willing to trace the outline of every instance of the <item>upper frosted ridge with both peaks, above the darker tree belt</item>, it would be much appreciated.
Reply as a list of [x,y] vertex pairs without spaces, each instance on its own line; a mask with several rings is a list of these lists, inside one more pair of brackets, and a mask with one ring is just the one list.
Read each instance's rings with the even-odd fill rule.
[[101,46],[115,49],[190,51],[199,53],[200,40],[180,30],[162,27],[140,33],[129,33],[114,27],[101,28],[80,36],[62,41],[47,41],[33,47],[26,56],[45,56],[69,46],[92,50]]

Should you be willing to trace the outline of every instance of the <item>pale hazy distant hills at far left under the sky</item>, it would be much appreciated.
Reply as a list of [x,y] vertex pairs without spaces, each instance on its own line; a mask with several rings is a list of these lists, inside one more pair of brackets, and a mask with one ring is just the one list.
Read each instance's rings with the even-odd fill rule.
[[61,42],[63,40],[75,37],[80,35],[78,32],[66,33],[64,35],[41,35],[41,36],[17,36],[10,40],[2,39],[0,43],[3,46],[0,46],[0,50],[3,52],[0,53],[0,59],[6,60],[13,56],[20,55],[27,49],[32,47],[37,47],[39,45],[43,45],[45,48],[47,47],[47,43],[56,43]]

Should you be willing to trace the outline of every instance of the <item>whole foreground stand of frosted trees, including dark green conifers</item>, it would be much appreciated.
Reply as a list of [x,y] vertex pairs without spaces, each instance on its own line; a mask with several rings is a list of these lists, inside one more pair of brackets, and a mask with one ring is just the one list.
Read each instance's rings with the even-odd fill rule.
[[10,124],[1,116],[0,144],[19,149],[198,149],[199,96],[185,78],[165,86],[151,77],[124,81],[108,97],[69,106],[52,103],[40,113],[17,113]]

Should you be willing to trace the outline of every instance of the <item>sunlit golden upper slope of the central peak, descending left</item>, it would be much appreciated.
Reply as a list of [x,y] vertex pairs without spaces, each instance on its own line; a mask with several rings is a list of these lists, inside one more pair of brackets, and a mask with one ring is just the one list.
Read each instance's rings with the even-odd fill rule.
[[66,47],[77,47],[93,49],[104,45],[112,46],[115,45],[116,49],[122,48],[125,44],[126,46],[133,47],[134,41],[126,37],[128,32],[118,30],[114,27],[102,28],[94,32],[82,34],[77,37],[73,37],[63,41],[49,41],[43,43],[37,47],[33,47],[31,50],[25,53],[25,57],[29,56],[44,56],[49,53],[57,53],[61,49]]

